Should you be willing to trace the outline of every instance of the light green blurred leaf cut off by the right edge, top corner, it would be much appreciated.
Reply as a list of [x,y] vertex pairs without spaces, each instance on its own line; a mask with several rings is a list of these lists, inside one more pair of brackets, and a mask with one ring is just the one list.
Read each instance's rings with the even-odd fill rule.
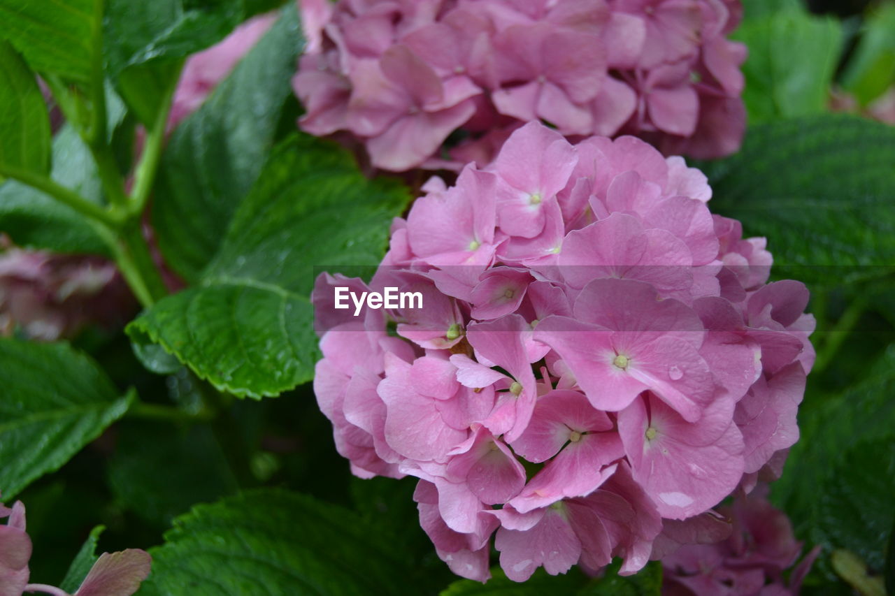
[[841,76],[843,89],[866,106],[895,81],[895,4],[880,4],[865,21],[855,53]]

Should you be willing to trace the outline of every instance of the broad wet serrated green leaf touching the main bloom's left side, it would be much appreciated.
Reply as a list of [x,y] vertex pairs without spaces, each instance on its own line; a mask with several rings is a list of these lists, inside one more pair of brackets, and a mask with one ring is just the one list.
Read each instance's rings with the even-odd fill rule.
[[235,396],[277,396],[311,379],[314,266],[375,265],[408,197],[367,180],[348,153],[307,135],[286,141],[233,218],[200,286],[128,326]]

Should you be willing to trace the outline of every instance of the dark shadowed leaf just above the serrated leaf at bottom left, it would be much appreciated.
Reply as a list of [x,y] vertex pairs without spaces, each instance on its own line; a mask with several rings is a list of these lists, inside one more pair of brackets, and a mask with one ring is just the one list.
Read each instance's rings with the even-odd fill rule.
[[126,421],[121,428],[107,467],[109,486],[119,504],[149,523],[164,527],[194,503],[237,489],[208,426]]

